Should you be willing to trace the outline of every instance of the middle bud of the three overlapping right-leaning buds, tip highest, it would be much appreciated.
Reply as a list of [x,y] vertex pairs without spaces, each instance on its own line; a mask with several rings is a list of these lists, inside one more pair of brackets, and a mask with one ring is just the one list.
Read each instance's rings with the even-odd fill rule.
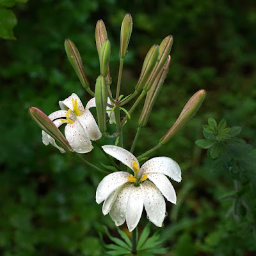
[[143,88],[143,90],[145,90],[146,92],[150,90],[159,72],[161,72],[161,69],[164,67],[164,63],[166,63],[168,55],[170,54],[170,51],[172,49],[172,44],[173,44],[173,36],[169,35],[169,36],[166,36],[166,38],[164,38],[164,40],[159,45],[159,56],[157,58],[156,65],[154,66],[150,74],[150,77],[148,77],[147,83]]

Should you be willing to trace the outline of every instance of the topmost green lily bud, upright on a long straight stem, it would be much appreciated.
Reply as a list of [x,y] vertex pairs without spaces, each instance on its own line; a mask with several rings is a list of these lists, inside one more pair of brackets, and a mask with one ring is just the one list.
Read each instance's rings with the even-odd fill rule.
[[121,36],[120,36],[120,58],[124,59],[127,55],[128,44],[132,33],[132,16],[127,13],[124,17],[121,26]]

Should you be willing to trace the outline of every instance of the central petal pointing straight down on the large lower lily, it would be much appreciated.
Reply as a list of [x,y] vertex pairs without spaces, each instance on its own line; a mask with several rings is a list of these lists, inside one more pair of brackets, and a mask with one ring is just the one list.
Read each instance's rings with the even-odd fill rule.
[[126,212],[126,223],[129,232],[137,227],[143,211],[143,189],[133,186],[129,196]]

